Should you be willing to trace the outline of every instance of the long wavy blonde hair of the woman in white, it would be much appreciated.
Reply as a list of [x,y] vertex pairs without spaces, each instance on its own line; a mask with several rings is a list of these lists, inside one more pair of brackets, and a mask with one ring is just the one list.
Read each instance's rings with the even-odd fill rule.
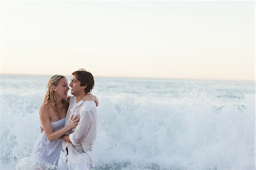
[[[65,78],[65,76],[61,76],[61,75],[54,75],[52,76],[48,83],[47,83],[47,92],[46,92],[46,96],[44,96],[44,102],[43,103],[47,103],[50,106],[53,107],[54,110],[58,111],[58,107],[57,107],[57,100],[56,100],[56,96],[55,93],[53,91],[53,86],[57,86],[57,84],[60,82],[61,78]],[[67,99],[62,99],[61,101],[64,106],[66,107],[66,109],[68,108],[68,101]]]

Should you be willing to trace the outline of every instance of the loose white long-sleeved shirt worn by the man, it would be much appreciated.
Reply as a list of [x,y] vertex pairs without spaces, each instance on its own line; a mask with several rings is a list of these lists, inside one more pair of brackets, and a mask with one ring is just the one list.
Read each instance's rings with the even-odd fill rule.
[[69,101],[69,107],[65,118],[65,126],[68,125],[71,115],[77,115],[80,121],[76,128],[68,133],[71,143],[63,141],[63,150],[68,147],[68,157],[73,164],[93,163],[92,146],[96,139],[97,110],[94,101],[80,101],[76,103],[75,96]]

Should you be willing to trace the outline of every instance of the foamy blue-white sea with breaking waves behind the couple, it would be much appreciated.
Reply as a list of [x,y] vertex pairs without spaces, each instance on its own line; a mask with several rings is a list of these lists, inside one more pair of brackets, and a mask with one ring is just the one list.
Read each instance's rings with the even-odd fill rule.
[[[31,154],[50,77],[1,74],[0,169]],[[95,170],[255,169],[254,81],[94,79]]]

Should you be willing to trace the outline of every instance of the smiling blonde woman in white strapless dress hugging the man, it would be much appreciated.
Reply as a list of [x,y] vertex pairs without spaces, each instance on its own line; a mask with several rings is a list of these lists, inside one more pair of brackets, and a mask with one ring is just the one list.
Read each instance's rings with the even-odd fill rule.
[[[67,78],[60,75],[52,76],[47,88],[39,110],[44,131],[36,140],[31,156],[19,160],[16,169],[57,169],[62,142],[60,137],[75,128],[79,122],[79,118],[72,117],[70,123],[64,127],[70,98],[67,96]],[[92,94],[86,95],[83,100],[94,100],[98,105],[97,98]]]

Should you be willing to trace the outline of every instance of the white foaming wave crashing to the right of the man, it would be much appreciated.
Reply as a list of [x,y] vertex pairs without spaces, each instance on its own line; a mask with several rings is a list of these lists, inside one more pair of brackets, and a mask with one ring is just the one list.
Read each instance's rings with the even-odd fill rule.
[[216,112],[207,98],[184,98],[179,105],[156,105],[150,97],[140,103],[125,95],[106,98],[99,107],[96,160],[174,169],[254,169],[253,100],[244,110],[226,106]]

